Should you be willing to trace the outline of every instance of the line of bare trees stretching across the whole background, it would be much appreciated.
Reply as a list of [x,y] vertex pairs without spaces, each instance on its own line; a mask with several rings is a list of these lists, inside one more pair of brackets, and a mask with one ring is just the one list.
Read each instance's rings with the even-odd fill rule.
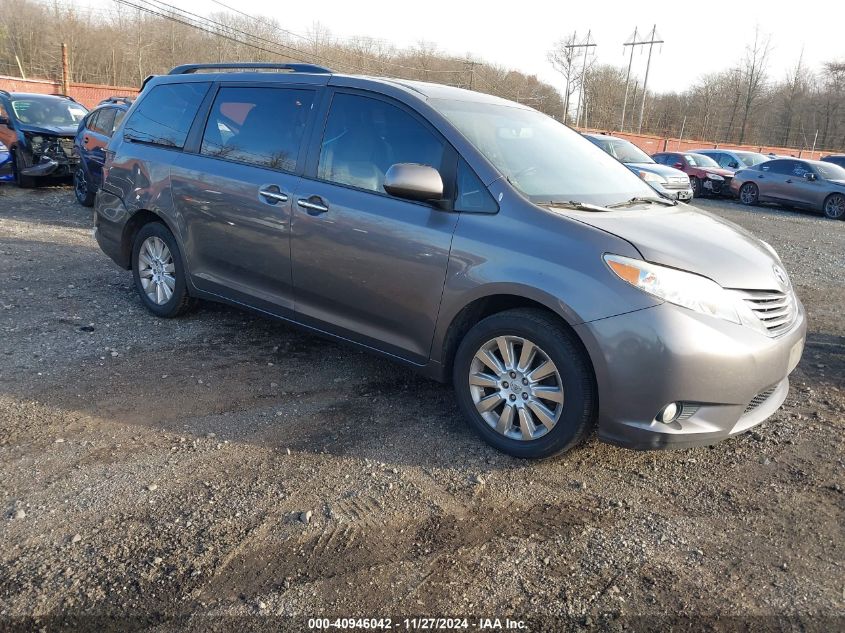
[[[64,42],[76,82],[138,86],[148,75],[187,62],[308,62],[340,72],[478,90],[567,123],[575,122],[577,112],[584,127],[619,130],[622,124],[626,69],[573,55],[565,45],[574,36],[562,38],[549,53],[562,78],[560,86],[553,86],[470,55],[446,54],[428,42],[398,48],[368,37],[341,39],[319,24],[297,34],[276,19],[213,1],[222,10],[199,15],[164,0],[115,0],[104,7],[71,0],[0,0],[0,74],[59,79]],[[787,147],[809,148],[815,141],[817,148],[845,148],[845,61],[813,70],[799,58],[786,76],[776,78],[768,69],[770,48],[769,38],[758,30],[734,68],[700,77],[682,92],[648,91],[642,132]],[[624,129],[637,131],[639,77],[630,77],[627,93]]]

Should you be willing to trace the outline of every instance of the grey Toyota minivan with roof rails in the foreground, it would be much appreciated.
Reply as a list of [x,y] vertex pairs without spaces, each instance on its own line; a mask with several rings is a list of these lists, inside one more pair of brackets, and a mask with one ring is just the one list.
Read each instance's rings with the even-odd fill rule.
[[775,251],[523,105],[306,64],[150,78],[95,235],[143,304],[257,310],[454,385],[499,450],[741,433],[804,345]]

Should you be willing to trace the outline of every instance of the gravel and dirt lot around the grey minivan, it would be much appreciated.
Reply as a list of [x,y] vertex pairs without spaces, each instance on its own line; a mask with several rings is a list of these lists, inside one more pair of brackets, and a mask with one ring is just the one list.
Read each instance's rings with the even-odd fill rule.
[[805,302],[786,405],[715,447],[526,463],[386,361],[220,306],[153,318],[69,188],[3,187],[0,629],[841,630],[845,222],[701,206]]

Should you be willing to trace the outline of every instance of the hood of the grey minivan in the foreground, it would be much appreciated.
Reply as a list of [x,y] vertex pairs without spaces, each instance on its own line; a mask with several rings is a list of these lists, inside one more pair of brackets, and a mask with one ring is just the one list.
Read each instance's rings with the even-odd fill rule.
[[630,242],[647,261],[698,273],[723,288],[782,289],[774,272],[779,262],[762,241],[689,205],[559,212]]

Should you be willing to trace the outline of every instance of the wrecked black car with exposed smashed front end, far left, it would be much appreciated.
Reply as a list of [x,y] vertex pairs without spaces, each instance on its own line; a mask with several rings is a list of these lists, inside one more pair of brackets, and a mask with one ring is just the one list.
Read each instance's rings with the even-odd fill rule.
[[70,97],[0,90],[0,142],[12,154],[19,186],[75,171],[73,136],[87,112]]

